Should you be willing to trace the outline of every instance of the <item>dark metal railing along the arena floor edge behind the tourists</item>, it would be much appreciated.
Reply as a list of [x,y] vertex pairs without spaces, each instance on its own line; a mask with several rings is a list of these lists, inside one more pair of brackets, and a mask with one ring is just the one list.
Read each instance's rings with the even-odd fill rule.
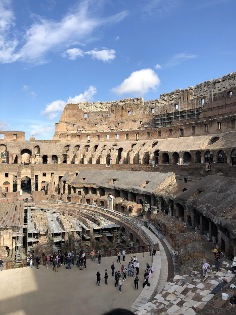
[[[126,255],[133,255],[135,256],[135,254],[139,254],[139,253],[149,253],[151,255],[151,245],[144,245],[144,246],[133,246],[133,247],[123,247],[123,248],[112,248],[112,249],[103,249],[103,250],[99,250],[99,253],[101,254],[102,258],[105,257],[115,257],[117,256],[118,251],[120,251],[122,253],[122,251],[125,250],[126,251]],[[95,252],[95,258],[97,258],[97,252]],[[84,252],[85,253],[85,257],[86,260],[87,259],[92,259],[91,256],[91,252]],[[47,253],[48,254],[48,253]],[[76,255],[78,255],[79,253],[75,253],[75,261],[76,261]],[[41,264],[42,264],[42,257],[41,258]],[[122,254],[121,254],[121,258],[122,258]],[[33,258],[33,265],[35,262],[35,257]],[[12,260],[12,261],[3,261],[3,269],[8,270],[8,269],[14,269],[14,268],[23,268],[27,266],[27,259],[16,259],[16,260]]]

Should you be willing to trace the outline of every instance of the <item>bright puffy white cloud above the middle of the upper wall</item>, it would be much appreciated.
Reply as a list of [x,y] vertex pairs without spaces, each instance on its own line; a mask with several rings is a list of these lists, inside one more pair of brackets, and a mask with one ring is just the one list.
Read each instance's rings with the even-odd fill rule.
[[150,89],[155,90],[160,85],[160,79],[152,69],[134,71],[119,86],[112,89],[118,95],[135,94],[144,95]]

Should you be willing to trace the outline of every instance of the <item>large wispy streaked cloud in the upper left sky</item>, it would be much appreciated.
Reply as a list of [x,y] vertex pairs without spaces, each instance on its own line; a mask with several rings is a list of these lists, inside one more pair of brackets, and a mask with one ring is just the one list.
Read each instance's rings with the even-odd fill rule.
[[[93,10],[90,12],[91,2],[85,0],[61,20],[46,20],[37,16],[25,34],[22,37],[18,35],[17,38],[14,13],[9,8],[9,3],[10,0],[0,0],[0,62],[2,63],[16,60],[45,63],[48,52],[62,51],[66,45],[75,41],[87,40],[98,27],[117,23],[127,15],[127,12],[123,11],[108,18],[98,18],[98,14],[94,14]],[[16,51],[21,42],[23,45]]]

